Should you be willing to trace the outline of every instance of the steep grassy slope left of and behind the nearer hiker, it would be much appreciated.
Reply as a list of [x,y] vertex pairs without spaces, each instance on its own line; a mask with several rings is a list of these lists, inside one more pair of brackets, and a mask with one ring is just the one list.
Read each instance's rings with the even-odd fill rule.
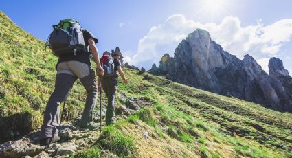
[[[40,126],[42,111],[54,90],[57,58],[43,51],[45,43],[17,27],[0,12],[0,133],[21,134]],[[66,118],[82,110],[85,90],[80,82],[70,93]],[[1,137],[0,142],[5,137]]]

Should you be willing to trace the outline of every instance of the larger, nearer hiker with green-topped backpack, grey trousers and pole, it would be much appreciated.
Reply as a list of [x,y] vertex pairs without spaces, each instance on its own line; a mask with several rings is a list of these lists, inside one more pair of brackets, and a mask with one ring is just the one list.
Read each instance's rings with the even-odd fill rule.
[[[96,48],[98,39],[91,32],[82,30],[78,21],[74,19],[65,19],[53,27],[54,31],[50,34],[48,43],[53,54],[59,58],[56,64],[55,89],[47,102],[39,137],[40,145],[45,148],[60,139],[56,128],[60,124],[60,104],[65,101],[77,78],[87,91],[85,108],[79,125],[89,129],[98,127],[98,124],[93,122],[93,108],[98,97],[98,87],[95,71],[90,63],[90,54],[97,65],[96,71],[100,75],[104,72]],[[63,41],[64,38],[71,41]]]

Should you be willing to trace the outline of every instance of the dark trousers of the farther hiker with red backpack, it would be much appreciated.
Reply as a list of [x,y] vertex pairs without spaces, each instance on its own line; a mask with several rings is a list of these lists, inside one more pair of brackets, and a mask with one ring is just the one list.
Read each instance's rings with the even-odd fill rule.
[[115,90],[117,88],[117,77],[104,77],[102,78],[102,88],[107,96],[106,107],[106,126],[115,122]]

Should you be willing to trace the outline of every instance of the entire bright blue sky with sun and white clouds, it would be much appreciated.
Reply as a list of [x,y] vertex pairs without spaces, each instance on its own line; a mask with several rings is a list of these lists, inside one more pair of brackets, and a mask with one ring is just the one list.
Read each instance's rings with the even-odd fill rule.
[[0,10],[37,38],[45,41],[52,25],[70,17],[99,38],[100,53],[119,46],[126,60],[139,67],[150,68],[164,53],[172,56],[181,39],[203,27],[238,58],[247,52],[267,71],[267,60],[276,56],[290,74],[291,5],[288,0],[0,0]]

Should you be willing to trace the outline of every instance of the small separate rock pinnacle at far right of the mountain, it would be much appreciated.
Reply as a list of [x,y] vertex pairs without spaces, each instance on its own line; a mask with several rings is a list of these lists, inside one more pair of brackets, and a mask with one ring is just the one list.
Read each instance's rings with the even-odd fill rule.
[[269,74],[276,77],[289,76],[289,72],[284,68],[282,60],[275,57],[269,60]]

